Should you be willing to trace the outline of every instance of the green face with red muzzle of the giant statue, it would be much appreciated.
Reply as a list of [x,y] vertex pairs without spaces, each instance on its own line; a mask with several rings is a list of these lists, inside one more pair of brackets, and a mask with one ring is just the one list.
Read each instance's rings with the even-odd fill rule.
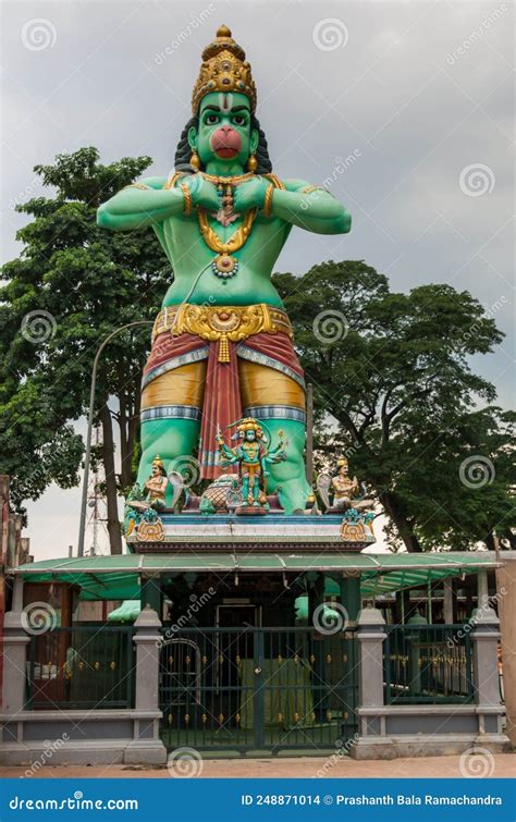
[[258,147],[258,132],[250,127],[250,103],[242,94],[213,91],[202,98],[199,127],[191,128],[188,143],[202,165],[217,162],[244,167]]

